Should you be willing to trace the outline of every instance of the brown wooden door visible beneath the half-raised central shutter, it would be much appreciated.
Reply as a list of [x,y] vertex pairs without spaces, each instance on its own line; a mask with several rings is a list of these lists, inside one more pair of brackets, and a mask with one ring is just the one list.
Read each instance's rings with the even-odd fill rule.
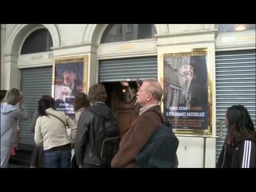
[[139,116],[139,105],[135,106],[138,86],[136,82],[129,82],[129,87],[123,86],[121,82],[103,83],[103,85],[108,94],[106,103],[115,111],[122,135]]

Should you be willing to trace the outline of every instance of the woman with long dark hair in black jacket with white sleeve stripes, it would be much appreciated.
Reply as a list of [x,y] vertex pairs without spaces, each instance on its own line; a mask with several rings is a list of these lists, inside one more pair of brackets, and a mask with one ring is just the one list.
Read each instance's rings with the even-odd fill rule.
[[256,135],[252,119],[242,105],[231,106],[226,114],[228,133],[218,159],[218,168],[256,167]]

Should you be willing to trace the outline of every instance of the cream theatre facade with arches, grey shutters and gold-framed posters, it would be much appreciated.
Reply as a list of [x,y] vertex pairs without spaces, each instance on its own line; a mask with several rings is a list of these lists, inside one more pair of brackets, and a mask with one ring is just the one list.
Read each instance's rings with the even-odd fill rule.
[[18,87],[29,113],[20,148],[34,148],[29,125],[38,99],[55,95],[56,66],[75,62],[83,92],[105,85],[121,131],[138,116],[139,82],[162,84],[179,167],[215,167],[228,107],[244,105],[255,126],[255,24],[1,24],[1,90]]

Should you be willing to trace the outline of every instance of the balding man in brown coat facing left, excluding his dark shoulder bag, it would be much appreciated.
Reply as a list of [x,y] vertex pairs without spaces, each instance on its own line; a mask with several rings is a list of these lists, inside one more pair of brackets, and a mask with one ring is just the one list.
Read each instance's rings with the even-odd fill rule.
[[157,81],[143,81],[137,93],[137,102],[142,107],[139,117],[125,131],[119,143],[119,151],[111,161],[111,167],[136,167],[135,156],[146,145],[157,125],[161,123],[160,117],[149,110],[162,114],[159,106],[162,95],[162,86]]

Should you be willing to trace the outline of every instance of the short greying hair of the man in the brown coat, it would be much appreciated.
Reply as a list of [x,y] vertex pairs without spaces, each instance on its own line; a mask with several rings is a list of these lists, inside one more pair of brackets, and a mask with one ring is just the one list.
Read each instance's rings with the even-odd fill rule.
[[143,81],[143,83],[144,82],[148,83],[148,85],[145,86],[145,90],[148,93],[151,93],[156,100],[161,101],[161,98],[163,96],[163,89],[161,84],[154,79],[147,79]]

